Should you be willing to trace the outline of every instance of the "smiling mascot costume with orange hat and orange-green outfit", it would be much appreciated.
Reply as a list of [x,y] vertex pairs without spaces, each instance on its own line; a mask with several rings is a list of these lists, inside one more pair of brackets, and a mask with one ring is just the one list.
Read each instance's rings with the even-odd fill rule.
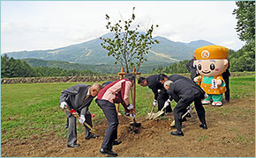
[[220,46],[206,46],[195,50],[195,64],[200,73],[194,78],[194,82],[205,90],[208,97],[202,100],[202,104],[222,106],[222,94],[226,91],[222,73],[229,66],[227,60],[229,49]]

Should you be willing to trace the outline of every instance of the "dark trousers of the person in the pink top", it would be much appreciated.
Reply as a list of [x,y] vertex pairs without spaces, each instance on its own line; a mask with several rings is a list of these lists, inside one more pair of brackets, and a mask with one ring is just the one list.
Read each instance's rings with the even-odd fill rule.
[[107,100],[97,99],[96,103],[102,108],[105,117],[108,119],[109,126],[106,130],[105,138],[102,142],[102,148],[111,149],[113,148],[114,140],[117,140],[117,110],[115,104],[110,103]]

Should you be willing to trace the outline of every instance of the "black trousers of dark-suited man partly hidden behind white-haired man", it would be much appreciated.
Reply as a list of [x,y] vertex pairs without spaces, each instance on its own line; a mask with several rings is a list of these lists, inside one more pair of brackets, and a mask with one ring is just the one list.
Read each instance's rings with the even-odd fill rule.
[[[169,95],[166,92],[166,90],[164,88],[162,88],[162,90],[160,91],[158,97],[157,97],[157,102],[158,102],[158,111],[162,110],[162,107],[164,106],[164,103],[169,99]],[[169,106],[166,107],[165,112],[171,112],[171,106],[169,104]]]

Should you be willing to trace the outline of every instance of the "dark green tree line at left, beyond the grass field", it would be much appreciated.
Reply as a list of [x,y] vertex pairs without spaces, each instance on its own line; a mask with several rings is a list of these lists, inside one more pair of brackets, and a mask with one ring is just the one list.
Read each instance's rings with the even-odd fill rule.
[[73,76],[96,74],[91,70],[64,70],[61,68],[31,67],[26,61],[1,56],[1,78],[11,77],[45,77],[45,76]]

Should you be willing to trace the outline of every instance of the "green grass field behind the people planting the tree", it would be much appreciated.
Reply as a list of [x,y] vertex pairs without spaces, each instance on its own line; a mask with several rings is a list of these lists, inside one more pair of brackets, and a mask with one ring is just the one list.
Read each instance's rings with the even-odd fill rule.
[[[2,143],[7,140],[29,140],[37,134],[43,139],[47,133],[56,133],[65,138],[66,118],[59,107],[59,97],[62,90],[75,84],[77,83],[2,84]],[[136,93],[137,116],[143,117],[151,110],[154,95],[148,92],[147,87],[138,84]],[[252,96],[255,96],[255,75],[230,78],[231,99]],[[174,102],[172,106],[175,106]],[[94,123],[104,118],[95,102],[91,104],[90,111],[95,114]],[[122,106],[120,111],[123,111]],[[79,132],[81,131],[83,128],[79,126]]]

